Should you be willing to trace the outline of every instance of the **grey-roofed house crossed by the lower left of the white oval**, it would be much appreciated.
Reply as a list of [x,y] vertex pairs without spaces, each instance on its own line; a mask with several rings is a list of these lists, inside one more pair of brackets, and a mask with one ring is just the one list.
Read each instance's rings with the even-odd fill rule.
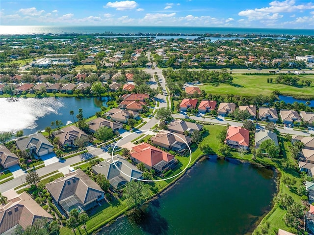
[[134,180],[133,178],[142,179],[143,174],[119,154],[100,162],[92,169],[96,175],[103,174],[113,189],[120,189],[126,183]]

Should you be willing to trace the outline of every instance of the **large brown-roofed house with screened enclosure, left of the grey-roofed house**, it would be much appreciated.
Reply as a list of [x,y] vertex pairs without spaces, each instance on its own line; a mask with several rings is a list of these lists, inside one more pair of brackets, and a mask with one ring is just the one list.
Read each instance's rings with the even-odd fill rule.
[[69,215],[72,209],[88,210],[105,197],[101,187],[81,169],[46,184],[53,200]]

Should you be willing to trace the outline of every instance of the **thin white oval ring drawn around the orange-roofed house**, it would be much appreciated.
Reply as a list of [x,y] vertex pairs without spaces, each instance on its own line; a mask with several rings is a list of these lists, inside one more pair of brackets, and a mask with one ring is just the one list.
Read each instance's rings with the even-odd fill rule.
[[[188,163],[186,164],[185,168],[184,168],[181,172],[179,172],[177,175],[174,175],[174,176],[171,176],[171,177],[169,177],[169,178],[162,179],[162,180],[143,180],[143,179],[138,179],[138,178],[129,176],[129,175],[127,175],[126,173],[124,173],[123,171],[121,171],[121,170],[118,168],[118,166],[116,165],[116,163],[114,162],[114,159],[113,159],[113,152],[114,152],[114,149],[117,147],[117,144],[118,144],[121,140],[123,140],[123,138],[125,138],[125,137],[127,137],[127,136],[129,136],[129,135],[131,135],[131,134],[134,134],[134,133],[137,133],[137,132],[143,132],[143,131],[164,131],[164,132],[168,132],[168,133],[173,134],[173,135],[179,137],[180,139],[182,139],[183,142],[187,145],[187,147],[188,147],[188,149],[189,149],[189,151],[190,151],[190,159],[189,159]],[[157,134],[157,133],[156,133],[156,134]],[[143,136],[143,137],[144,137],[144,136]],[[184,140],[183,138],[181,138],[179,135],[176,135],[175,133],[172,133],[172,132],[170,132],[170,131],[156,130],[156,129],[139,130],[139,131],[131,132],[131,133],[129,133],[128,135],[124,136],[123,138],[122,138],[122,139],[119,139],[118,142],[114,145],[114,147],[113,147],[113,149],[112,149],[112,153],[111,153],[111,159],[112,159],[112,162],[113,162],[113,164],[115,165],[115,167],[116,167],[122,174],[126,175],[127,177],[130,177],[130,178],[133,179],[133,180],[144,181],[144,182],[158,182],[158,181],[170,180],[170,179],[172,179],[172,178],[174,178],[174,177],[177,177],[177,176],[179,176],[180,174],[182,174],[182,173],[187,169],[188,165],[191,163],[191,160],[192,160],[192,151],[191,151],[190,146],[188,146],[187,142],[185,142],[185,140]],[[162,150],[160,150],[160,151],[162,151]]]

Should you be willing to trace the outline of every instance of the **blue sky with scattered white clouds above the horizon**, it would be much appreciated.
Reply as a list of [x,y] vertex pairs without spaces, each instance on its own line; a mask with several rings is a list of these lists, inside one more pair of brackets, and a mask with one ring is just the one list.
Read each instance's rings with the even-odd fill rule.
[[1,0],[0,25],[314,29],[314,0]]

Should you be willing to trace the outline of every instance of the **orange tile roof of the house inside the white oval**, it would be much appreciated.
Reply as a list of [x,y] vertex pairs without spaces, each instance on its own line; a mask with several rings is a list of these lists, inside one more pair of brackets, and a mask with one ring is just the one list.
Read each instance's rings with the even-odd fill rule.
[[132,157],[151,167],[162,160],[168,162],[174,158],[173,155],[161,151],[147,143],[136,145],[132,147],[132,150],[134,151],[131,154]]

